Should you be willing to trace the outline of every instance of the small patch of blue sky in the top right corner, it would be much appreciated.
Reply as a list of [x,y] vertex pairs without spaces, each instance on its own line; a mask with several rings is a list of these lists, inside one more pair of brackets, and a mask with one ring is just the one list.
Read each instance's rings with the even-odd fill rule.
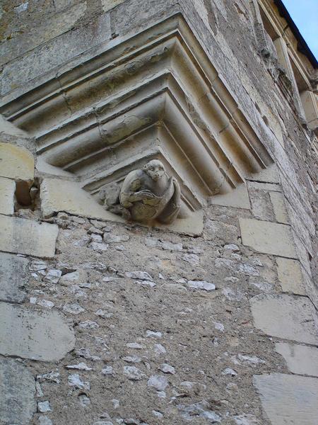
[[283,0],[283,4],[318,58],[318,0]]

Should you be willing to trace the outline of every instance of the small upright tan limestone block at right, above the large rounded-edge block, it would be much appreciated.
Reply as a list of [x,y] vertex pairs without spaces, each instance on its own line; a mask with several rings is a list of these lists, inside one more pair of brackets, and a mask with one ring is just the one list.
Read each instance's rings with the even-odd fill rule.
[[302,269],[300,262],[291,259],[278,257],[277,271],[278,279],[283,292],[290,292],[299,295],[306,295],[304,284],[302,283]]

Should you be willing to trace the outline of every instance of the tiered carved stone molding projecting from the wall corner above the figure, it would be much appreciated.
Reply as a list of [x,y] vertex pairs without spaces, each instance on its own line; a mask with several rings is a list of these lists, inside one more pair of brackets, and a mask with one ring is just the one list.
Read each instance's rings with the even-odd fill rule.
[[0,112],[35,137],[40,173],[95,198],[159,159],[194,212],[272,162],[181,15],[31,81]]

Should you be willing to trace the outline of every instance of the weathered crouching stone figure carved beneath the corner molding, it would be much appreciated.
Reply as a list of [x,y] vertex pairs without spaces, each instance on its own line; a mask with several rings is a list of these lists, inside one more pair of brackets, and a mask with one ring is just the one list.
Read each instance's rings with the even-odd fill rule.
[[169,224],[177,218],[180,208],[179,183],[167,175],[162,162],[153,159],[143,169],[126,176],[119,201],[126,220]]

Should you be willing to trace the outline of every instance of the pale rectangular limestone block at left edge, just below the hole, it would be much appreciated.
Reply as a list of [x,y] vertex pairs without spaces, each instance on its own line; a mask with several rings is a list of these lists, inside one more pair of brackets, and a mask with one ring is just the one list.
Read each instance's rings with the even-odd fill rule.
[[0,215],[0,251],[50,258],[58,233],[57,225]]

